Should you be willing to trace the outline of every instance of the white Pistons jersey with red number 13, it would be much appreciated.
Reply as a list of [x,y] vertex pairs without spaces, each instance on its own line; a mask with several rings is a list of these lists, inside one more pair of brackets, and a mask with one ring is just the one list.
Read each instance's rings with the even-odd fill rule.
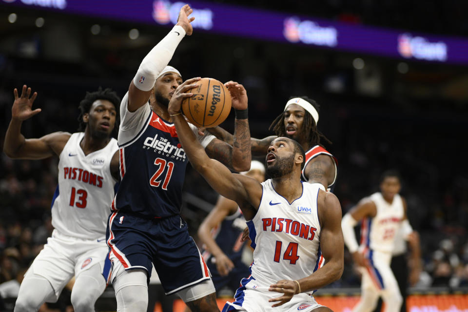
[[84,133],[74,133],[59,159],[59,185],[52,199],[52,225],[60,234],[80,239],[105,239],[107,217],[117,180],[110,163],[117,152],[111,138],[103,148],[84,155]]

